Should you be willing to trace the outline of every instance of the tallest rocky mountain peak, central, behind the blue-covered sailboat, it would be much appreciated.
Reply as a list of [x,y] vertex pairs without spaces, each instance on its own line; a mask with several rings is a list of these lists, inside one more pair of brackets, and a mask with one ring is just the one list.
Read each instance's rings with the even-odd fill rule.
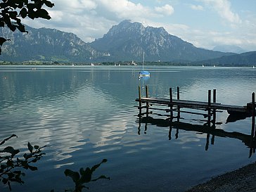
[[113,26],[107,34],[90,43],[98,51],[110,53],[108,59],[191,62],[231,55],[200,49],[179,37],[169,34],[163,27],[144,27],[141,23],[122,21]]

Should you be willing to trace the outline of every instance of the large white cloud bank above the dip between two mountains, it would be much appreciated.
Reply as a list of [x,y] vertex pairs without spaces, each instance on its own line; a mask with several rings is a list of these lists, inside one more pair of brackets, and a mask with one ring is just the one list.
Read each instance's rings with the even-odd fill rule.
[[173,13],[172,6],[154,8],[133,3],[129,0],[55,0],[49,8],[51,20],[29,20],[24,23],[31,27],[48,27],[77,34],[89,42],[103,37],[110,27],[122,20],[143,23],[144,20],[162,18]]

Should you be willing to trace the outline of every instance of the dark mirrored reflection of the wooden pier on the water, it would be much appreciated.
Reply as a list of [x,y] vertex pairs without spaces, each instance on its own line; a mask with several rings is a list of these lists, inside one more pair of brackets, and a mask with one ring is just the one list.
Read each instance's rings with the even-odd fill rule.
[[[209,124],[191,124],[186,122],[172,121],[169,119],[160,119],[160,118],[153,118],[147,115],[147,117],[142,117],[138,115],[138,119],[136,120],[139,123],[138,127],[138,134],[141,134],[141,124],[145,124],[144,134],[146,134],[148,129],[148,124],[155,125],[157,127],[169,127],[169,140],[172,139],[172,130],[176,129],[175,138],[179,138],[179,130],[185,130],[186,132],[197,132],[202,134],[207,134],[206,137],[206,144],[205,144],[205,151],[209,148],[210,143],[210,135],[211,144],[215,143],[215,136],[224,137],[224,138],[233,138],[242,141],[245,146],[250,148],[249,158],[252,156],[252,153],[255,153],[256,149],[256,136],[255,136],[255,129],[252,129],[252,134],[243,134],[241,132],[226,132],[223,129],[216,129],[215,124],[211,126]],[[252,126],[254,126],[252,124]]]

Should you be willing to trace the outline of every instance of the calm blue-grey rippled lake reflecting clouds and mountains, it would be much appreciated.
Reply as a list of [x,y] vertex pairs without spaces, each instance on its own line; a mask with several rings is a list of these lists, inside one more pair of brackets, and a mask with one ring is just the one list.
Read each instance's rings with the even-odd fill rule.
[[[33,69],[33,70],[32,70]],[[12,191],[64,191],[72,188],[65,169],[79,171],[103,163],[89,191],[185,191],[211,177],[255,162],[256,154],[240,139],[161,127],[141,122],[135,99],[138,86],[153,97],[207,101],[217,90],[217,103],[246,105],[256,91],[252,68],[146,66],[148,79],[139,79],[139,66],[0,65],[0,141],[27,151],[27,142],[44,146],[44,155],[26,171],[25,184]],[[145,88],[141,89],[145,94]],[[189,111],[189,110],[188,110]],[[195,111],[195,110],[193,110]],[[196,110],[197,112],[197,110]],[[158,113],[154,111],[154,113]],[[151,117],[165,120],[168,113]],[[252,118],[226,123],[217,113],[216,129],[250,135]],[[202,115],[181,113],[181,122],[203,124]],[[210,136],[210,138],[209,138]],[[210,139],[210,143],[209,143]],[[208,141],[207,141],[208,140]],[[208,146],[207,146],[208,143]],[[0,185],[0,191],[8,191]]]

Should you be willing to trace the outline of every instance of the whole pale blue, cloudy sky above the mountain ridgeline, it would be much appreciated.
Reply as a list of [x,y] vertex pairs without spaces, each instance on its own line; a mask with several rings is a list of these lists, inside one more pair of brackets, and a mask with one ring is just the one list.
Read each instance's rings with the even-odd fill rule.
[[164,27],[196,47],[240,46],[256,51],[255,0],[51,0],[51,20],[28,20],[30,27],[77,34],[85,42],[103,37],[122,20]]

